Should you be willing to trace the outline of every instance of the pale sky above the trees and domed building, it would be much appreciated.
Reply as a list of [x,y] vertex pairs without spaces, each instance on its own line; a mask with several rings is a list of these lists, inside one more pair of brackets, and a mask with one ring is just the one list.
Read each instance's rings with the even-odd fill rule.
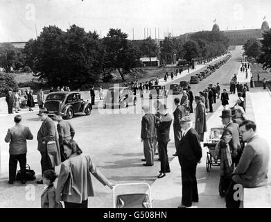
[[[261,28],[271,22],[270,0],[0,0],[0,42],[26,42],[44,26],[70,25],[104,37],[121,28],[128,39],[164,38],[194,31]],[[270,23],[271,26],[271,23]],[[35,28],[37,27],[37,28]],[[133,32],[134,30],[134,32]],[[134,33],[134,35],[133,35]]]

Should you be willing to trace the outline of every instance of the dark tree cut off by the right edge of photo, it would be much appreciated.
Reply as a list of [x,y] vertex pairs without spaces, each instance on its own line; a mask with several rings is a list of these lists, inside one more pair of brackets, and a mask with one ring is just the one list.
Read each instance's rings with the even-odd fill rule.
[[271,31],[263,33],[263,40],[261,40],[261,55],[258,62],[263,65],[263,69],[271,68]]

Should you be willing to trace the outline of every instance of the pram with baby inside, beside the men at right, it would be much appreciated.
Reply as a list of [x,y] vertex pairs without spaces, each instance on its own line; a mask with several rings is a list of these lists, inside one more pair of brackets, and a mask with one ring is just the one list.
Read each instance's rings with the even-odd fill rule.
[[[214,134],[218,133],[217,136]],[[206,170],[209,172],[209,169],[211,169],[212,166],[220,166],[220,160],[216,160],[215,157],[215,148],[216,144],[220,141],[220,137],[223,133],[223,128],[211,128],[209,138],[207,139],[207,142],[203,144],[204,147],[208,148],[207,151],[207,157],[206,157]]]

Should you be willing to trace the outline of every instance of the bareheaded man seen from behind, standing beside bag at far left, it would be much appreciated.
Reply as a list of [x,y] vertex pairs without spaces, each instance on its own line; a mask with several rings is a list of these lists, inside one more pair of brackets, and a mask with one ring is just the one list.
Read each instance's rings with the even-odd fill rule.
[[8,183],[12,185],[16,178],[17,162],[21,168],[21,183],[26,183],[26,153],[27,144],[26,139],[32,140],[33,135],[28,126],[21,124],[21,116],[14,117],[15,126],[8,129],[5,137],[5,142],[10,143],[10,160],[9,160],[9,180]]

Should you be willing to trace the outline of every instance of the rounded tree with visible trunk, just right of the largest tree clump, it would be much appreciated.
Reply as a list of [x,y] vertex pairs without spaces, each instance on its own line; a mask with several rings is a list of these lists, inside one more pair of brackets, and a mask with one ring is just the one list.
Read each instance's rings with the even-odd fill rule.
[[121,29],[110,28],[103,38],[105,47],[105,61],[103,69],[116,69],[123,81],[125,76],[136,66],[139,52],[128,42],[128,35]]

